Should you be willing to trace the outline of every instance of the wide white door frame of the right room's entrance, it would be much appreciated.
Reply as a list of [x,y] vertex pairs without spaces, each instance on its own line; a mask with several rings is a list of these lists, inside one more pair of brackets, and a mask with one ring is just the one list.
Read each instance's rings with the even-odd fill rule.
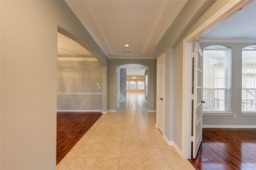
[[250,4],[249,0],[230,0],[225,6],[212,15],[206,22],[196,28],[183,40],[183,70],[182,70],[182,157],[191,159],[192,130],[192,42],[206,34],[218,24],[234,15],[238,9]]

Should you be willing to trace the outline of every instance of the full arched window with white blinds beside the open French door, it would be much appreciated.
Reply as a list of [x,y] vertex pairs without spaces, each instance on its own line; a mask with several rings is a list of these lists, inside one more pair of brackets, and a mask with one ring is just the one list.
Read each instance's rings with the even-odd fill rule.
[[231,48],[226,46],[204,48],[204,112],[230,111],[231,57]]

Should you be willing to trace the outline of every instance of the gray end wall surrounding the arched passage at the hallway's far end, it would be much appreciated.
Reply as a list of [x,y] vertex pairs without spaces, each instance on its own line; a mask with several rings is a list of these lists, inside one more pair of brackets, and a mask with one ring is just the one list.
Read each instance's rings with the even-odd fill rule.
[[156,110],[155,59],[108,59],[108,110],[116,110],[116,67],[125,64],[142,64],[149,68],[148,110]]

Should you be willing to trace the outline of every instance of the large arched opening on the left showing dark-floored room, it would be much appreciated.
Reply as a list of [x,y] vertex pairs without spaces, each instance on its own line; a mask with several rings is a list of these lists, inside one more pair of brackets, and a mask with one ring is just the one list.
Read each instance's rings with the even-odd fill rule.
[[[60,32],[67,33],[61,30]],[[82,46],[81,44],[85,44],[82,40],[74,38],[70,33],[64,35],[60,32],[58,32],[56,94],[57,164],[98,120],[102,110],[106,110],[103,106],[106,103],[104,62],[98,61],[92,54],[95,52],[90,48],[92,52],[85,48],[87,46]]]

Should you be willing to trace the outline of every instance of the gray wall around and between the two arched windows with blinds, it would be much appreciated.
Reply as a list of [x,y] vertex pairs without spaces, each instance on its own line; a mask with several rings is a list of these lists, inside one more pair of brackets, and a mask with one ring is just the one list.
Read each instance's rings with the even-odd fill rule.
[[[201,43],[203,48],[211,45],[224,45],[232,48],[232,82],[231,82],[231,112],[236,114],[230,116],[203,116],[203,125],[256,125],[256,116],[242,116],[242,48],[253,45],[253,43]],[[255,43],[254,43],[255,44]]]

